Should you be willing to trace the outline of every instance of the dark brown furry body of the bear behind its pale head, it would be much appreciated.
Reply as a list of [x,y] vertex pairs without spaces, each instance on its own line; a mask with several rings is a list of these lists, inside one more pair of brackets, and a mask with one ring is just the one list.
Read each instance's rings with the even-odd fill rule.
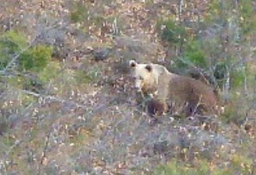
[[168,72],[162,75],[159,83],[160,98],[171,106],[184,106],[187,116],[216,114],[218,97],[215,90],[204,82]]

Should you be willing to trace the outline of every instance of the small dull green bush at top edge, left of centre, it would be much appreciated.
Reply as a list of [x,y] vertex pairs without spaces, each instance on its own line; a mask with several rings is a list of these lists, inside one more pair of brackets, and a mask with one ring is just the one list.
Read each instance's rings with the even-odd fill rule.
[[72,12],[70,13],[70,19],[73,23],[79,23],[86,21],[88,18],[88,9],[85,4],[81,2],[75,2]]

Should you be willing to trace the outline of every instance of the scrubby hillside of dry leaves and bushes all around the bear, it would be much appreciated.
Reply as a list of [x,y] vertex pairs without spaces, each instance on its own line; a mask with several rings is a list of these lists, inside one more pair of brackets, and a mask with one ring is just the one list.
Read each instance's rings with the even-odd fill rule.
[[[254,174],[254,2],[183,2],[2,2],[0,173]],[[129,59],[209,75],[224,113],[154,120]]]

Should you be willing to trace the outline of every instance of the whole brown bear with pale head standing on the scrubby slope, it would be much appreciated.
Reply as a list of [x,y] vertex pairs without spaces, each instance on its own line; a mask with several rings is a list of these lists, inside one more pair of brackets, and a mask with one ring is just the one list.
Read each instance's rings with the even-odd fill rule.
[[[197,79],[171,73],[163,65],[129,61],[135,89],[151,96],[149,109],[156,114],[217,114],[218,96],[209,85]],[[155,111],[156,110],[156,111]]]

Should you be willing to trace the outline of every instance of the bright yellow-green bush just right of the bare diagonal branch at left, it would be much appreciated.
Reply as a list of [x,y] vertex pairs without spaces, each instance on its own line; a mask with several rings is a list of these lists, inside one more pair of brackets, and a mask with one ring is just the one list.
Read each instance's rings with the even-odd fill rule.
[[53,50],[45,45],[31,47],[20,55],[20,68],[25,71],[40,72],[51,60]]

